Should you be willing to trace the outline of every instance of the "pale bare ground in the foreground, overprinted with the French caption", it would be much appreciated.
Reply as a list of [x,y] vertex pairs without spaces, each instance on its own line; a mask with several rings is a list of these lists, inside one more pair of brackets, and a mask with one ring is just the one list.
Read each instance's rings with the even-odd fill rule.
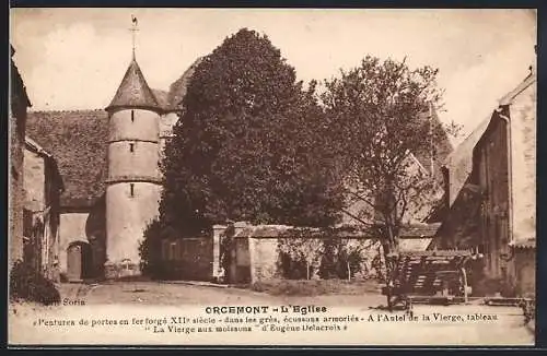
[[[522,311],[519,308],[488,307],[478,304],[449,307],[416,306],[417,319],[408,321],[403,320],[408,318],[404,312],[392,315],[371,309],[385,302],[384,297],[374,290],[349,295],[286,296],[243,288],[159,282],[63,284],[60,290],[67,305],[61,302],[60,306],[53,307],[11,306],[10,343],[177,345],[533,345],[534,343],[533,332],[523,324]],[[79,302],[84,305],[78,305]],[[270,308],[284,306],[290,312],[270,310],[267,315],[258,315],[254,322],[245,323],[246,320],[238,318],[248,316],[253,318],[253,315],[220,313],[220,311],[213,313],[211,308],[207,309],[216,306],[269,306]],[[293,306],[306,308],[294,312]],[[310,312],[309,306],[319,309],[325,307],[327,312]],[[442,313],[447,320],[435,321],[433,313]],[[496,320],[468,320],[470,317],[467,316],[475,318],[478,315],[484,318],[489,316]],[[326,322],[322,319],[325,316],[340,319]],[[426,321],[424,316],[429,316],[430,320]],[[187,329],[179,329],[176,332],[167,330],[168,325],[177,327],[171,324],[172,317],[187,318],[186,323],[181,324]],[[309,319],[303,320],[304,322],[298,320],[307,317],[319,317],[321,322],[314,327],[314,322]],[[437,317],[439,318],[439,315]],[[398,320],[395,320],[397,318]],[[451,318],[462,318],[462,320],[454,321]],[[128,320],[129,324],[112,324],[116,320],[121,322],[123,319]],[[143,324],[139,324],[139,320]],[[74,321],[75,325],[55,324],[60,321]],[[84,324],[85,322],[89,324]],[[223,328],[248,324],[253,328],[253,332],[223,330],[219,334],[190,330],[195,325],[211,325],[211,322],[216,323],[216,327]],[[304,324],[312,328],[294,331],[294,328],[303,328]],[[317,331],[317,325],[324,325],[329,331]],[[266,331],[263,332],[263,329]],[[161,330],[164,332],[160,332]]]

